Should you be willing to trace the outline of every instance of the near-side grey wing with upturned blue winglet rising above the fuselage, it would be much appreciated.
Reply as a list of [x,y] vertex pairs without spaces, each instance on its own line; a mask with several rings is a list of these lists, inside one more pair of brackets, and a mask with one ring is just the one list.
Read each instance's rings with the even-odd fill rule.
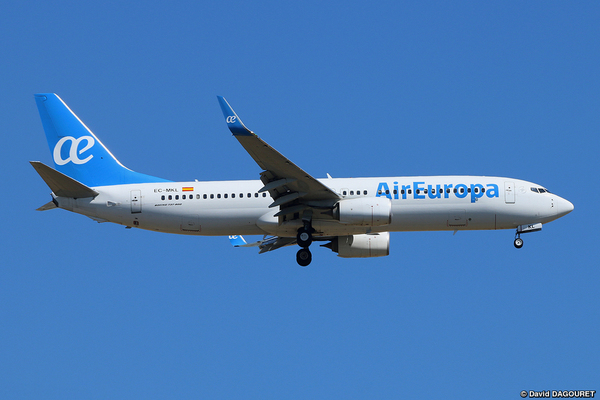
[[227,100],[222,96],[217,98],[229,130],[264,170],[260,174],[264,184],[260,192],[268,191],[273,198],[269,207],[281,207],[276,215],[300,212],[309,207],[308,203],[334,203],[340,199],[337,193],[246,128]]

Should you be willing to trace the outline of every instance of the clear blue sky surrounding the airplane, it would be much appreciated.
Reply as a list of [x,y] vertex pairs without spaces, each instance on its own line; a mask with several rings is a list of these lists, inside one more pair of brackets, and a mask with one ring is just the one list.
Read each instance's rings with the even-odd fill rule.
[[[0,393],[11,399],[520,398],[600,390],[595,2],[2,6]],[[256,179],[216,95],[315,177],[492,175],[575,210],[258,255],[36,212],[56,92],[129,168]]]

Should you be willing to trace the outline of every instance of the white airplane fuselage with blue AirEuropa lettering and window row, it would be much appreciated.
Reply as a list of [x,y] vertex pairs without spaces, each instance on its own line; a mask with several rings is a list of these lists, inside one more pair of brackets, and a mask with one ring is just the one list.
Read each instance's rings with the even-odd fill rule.
[[[547,223],[572,210],[567,200],[537,191],[540,185],[483,176],[320,179],[345,199],[390,199],[391,222],[343,224],[315,217],[315,236],[369,232],[514,229]],[[259,180],[161,182],[94,187],[95,198],[57,197],[59,207],[97,221],[188,235],[295,236],[302,222],[275,217],[279,207],[258,191]],[[535,188],[536,191],[533,191]],[[382,200],[383,200],[382,199]]]

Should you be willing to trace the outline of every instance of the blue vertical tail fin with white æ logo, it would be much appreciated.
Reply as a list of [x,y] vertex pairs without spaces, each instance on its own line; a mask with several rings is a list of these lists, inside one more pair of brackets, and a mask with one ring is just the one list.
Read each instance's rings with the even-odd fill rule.
[[86,186],[167,182],[126,168],[54,93],[35,95],[56,170]]

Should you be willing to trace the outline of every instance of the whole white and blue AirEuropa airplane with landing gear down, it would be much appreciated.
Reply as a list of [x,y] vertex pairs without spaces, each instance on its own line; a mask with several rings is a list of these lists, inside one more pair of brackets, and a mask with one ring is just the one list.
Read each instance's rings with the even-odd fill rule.
[[[260,180],[174,182],[121,164],[54,93],[36,94],[54,168],[31,161],[62,208],[126,228],[229,236],[259,253],[298,245],[311,263],[313,241],[339,257],[389,255],[390,232],[515,229],[537,232],[574,208],[545,187],[486,176],[316,179],[246,128],[217,96],[233,136],[262,169]],[[243,235],[263,235],[247,243]]]

